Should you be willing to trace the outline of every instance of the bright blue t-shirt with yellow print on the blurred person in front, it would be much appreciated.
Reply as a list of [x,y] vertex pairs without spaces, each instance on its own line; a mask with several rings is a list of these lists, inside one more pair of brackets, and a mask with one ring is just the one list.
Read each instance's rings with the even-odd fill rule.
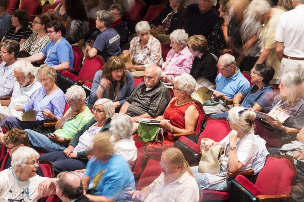
[[90,178],[88,193],[119,201],[129,201],[126,192],[135,190],[134,176],[129,164],[119,155],[103,163],[93,156],[86,166],[85,176]]

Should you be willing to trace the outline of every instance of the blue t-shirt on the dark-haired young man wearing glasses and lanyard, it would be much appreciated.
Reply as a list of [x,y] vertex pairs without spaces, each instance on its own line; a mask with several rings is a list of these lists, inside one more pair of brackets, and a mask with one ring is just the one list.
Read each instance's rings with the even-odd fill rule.
[[47,55],[45,64],[53,67],[62,62],[70,62],[69,69],[73,68],[74,55],[72,46],[65,38],[60,39],[56,44],[51,41],[41,52]]

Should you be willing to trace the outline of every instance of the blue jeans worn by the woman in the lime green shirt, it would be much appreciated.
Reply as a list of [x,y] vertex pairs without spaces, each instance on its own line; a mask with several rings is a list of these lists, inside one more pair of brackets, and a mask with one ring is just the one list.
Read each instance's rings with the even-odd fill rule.
[[54,142],[39,132],[30,129],[25,129],[24,131],[26,131],[29,135],[29,144],[38,152],[56,152],[58,150],[64,150],[67,148],[67,145],[61,144],[59,142]]

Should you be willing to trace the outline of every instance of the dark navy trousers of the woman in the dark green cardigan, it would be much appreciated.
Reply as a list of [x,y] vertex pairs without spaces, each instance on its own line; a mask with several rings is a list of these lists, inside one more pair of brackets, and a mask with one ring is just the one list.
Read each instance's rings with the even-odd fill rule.
[[39,157],[40,161],[50,161],[53,163],[54,172],[57,175],[62,171],[74,171],[77,169],[85,169],[88,159],[69,159],[63,151],[50,152]]

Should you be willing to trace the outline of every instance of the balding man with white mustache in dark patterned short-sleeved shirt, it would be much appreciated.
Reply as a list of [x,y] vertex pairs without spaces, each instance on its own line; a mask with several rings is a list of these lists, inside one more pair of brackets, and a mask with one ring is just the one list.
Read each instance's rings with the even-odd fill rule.
[[160,82],[161,68],[156,65],[147,67],[144,82],[141,82],[121,107],[119,113],[137,118],[152,118],[164,113],[170,102],[168,89]]

